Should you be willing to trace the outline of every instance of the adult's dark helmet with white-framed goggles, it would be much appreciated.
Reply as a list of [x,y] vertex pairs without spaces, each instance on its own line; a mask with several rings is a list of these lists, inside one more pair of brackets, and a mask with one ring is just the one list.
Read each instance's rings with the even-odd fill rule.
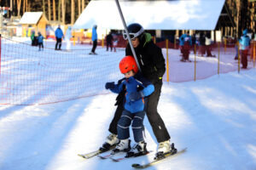
[[[140,35],[143,34],[143,31],[144,31],[143,30],[143,26],[141,26],[141,25],[139,25],[137,23],[129,25],[127,27],[127,30],[129,32],[129,35],[130,35],[131,39],[139,37]],[[123,33],[123,37],[124,37],[125,40],[128,39],[127,34],[125,32]]]

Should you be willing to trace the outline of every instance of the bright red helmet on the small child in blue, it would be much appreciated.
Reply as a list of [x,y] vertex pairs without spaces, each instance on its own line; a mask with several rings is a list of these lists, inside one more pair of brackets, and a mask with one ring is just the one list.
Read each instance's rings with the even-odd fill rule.
[[125,74],[126,72],[129,72],[133,70],[135,73],[137,73],[138,68],[135,59],[128,55],[125,56],[119,63],[119,69],[121,73]]

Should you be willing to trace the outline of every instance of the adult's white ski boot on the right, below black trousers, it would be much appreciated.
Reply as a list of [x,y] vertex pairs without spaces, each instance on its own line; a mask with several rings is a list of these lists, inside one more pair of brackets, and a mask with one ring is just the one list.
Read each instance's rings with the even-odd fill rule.
[[160,142],[157,153],[155,154],[154,159],[164,158],[168,154],[176,154],[177,149],[174,147],[174,144],[170,144],[170,140]]

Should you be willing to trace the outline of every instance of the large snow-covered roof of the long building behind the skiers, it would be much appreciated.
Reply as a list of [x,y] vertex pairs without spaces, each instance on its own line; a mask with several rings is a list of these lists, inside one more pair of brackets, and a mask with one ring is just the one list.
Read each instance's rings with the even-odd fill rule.
[[[119,1],[127,25],[137,22],[146,30],[214,30],[224,0]],[[115,1],[90,1],[73,28],[123,30]]]

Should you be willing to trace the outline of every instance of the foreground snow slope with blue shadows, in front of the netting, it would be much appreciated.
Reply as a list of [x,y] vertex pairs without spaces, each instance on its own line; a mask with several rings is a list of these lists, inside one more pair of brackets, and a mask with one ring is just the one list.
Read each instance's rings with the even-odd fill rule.
[[[178,51],[176,54],[178,60]],[[201,59],[201,65],[207,65],[205,58]],[[183,65],[192,68],[194,64]],[[177,71],[178,66],[175,68]],[[205,70],[202,72],[207,74]],[[183,71],[177,73],[186,77]],[[160,116],[177,149],[188,150],[147,169],[256,169],[255,86],[255,69],[196,82],[164,82]],[[103,143],[115,111],[115,97],[104,94],[52,105],[0,105],[0,169],[125,170],[132,169],[132,163],[152,160],[154,154],[120,162],[77,156]],[[147,118],[144,125],[148,150],[155,151],[157,142]]]

